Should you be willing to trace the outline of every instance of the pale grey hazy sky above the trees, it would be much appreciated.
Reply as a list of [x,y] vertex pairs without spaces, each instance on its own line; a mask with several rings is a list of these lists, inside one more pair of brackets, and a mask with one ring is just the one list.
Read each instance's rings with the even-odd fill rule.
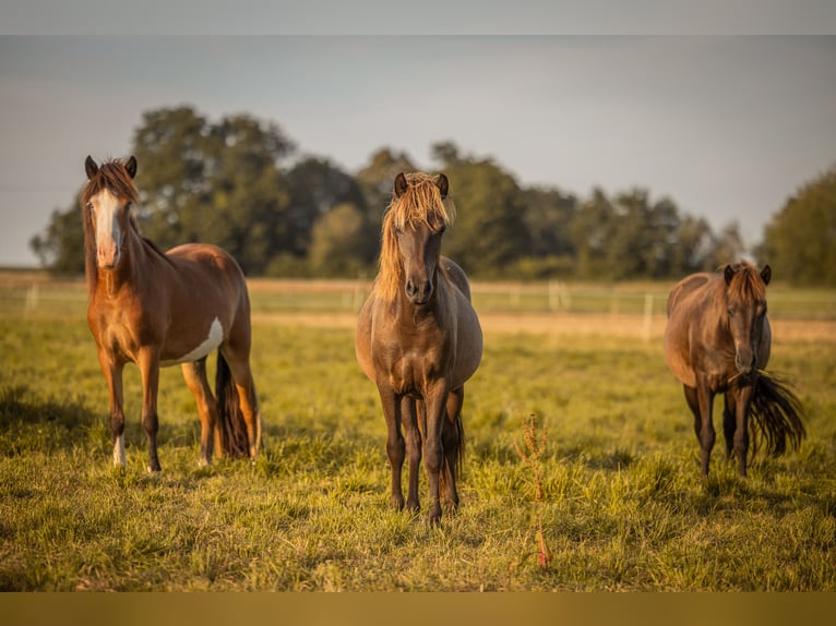
[[[180,105],[276,123],[297,156],[349,173],[382,147],[433,169],[431,146],[449,141],[521,185],[582,198],[642,188],[715,231],[737,221],[750,245],[836,166],[836,10],[810,0],[792,19],[764,0],[772,13],[714,25],[690,10],[605,19],[589,0],[557,34],[544,26],[551,4],[525,0],[506,20],[486,10],[495,1],[407,13],[369,0],[348,15],[322,0],[239,0],[235,14],[207,0],[179,24],[152,19],[156,0],[126,4],[119,21],[114,1],[46,4],[0,9],[0,266],[36,265],[28,241],[73,205],[88,154],[129,156],[143,112]],[[190,4],[169,3],[169,16]],[[267,4],[286,12],[259,22]]]

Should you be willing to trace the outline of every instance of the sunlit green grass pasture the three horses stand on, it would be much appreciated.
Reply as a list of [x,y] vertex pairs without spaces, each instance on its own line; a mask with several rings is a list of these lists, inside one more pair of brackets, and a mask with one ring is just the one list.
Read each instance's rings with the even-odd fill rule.
[[[199,467],[170,368],[148,474],[135,366],[128,466],[112,467],[84,285],[3,278],[0,589],[836,591],[829,292],[768,292],[768,369],[807,409],[800,452],[760,455],[740,479],[718,438],[704,482],[662,357],[669,286],[475,286],[485,356],[466,386],[462,506],[433,528],[423,475],[419,514],[389,507],[380,401],[354,356],[362,282],[251,281],[262,455]],[[532,418],[539,499],[517,452]]]

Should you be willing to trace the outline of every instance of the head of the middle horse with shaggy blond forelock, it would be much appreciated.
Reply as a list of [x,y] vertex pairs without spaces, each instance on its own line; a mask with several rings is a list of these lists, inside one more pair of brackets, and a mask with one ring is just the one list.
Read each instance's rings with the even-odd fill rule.
[[455,210],[447,198],[449,184],[443,173],[395,177],[381,252],[381,274],[389,280],[391,298],[402,286],[413,304],[423,305],[432,298],[441,238]]

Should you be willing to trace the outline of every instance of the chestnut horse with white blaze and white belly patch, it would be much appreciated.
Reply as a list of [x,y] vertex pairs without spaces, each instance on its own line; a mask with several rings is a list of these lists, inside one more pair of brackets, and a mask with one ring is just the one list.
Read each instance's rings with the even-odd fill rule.
[[[114,464],[126,465],[122,370],[142,375],[142,426],[148,440],[148,471],[157,457],[159,368],[181,364],[198,404],[201,464],[213,448],[220,456],[250,456],[261,445],[261,416],[250,372],[250,301],[241,268],[208,244],[186,244],[163,253],[138,229],[131,205],[136,159],[84,162],[81,194],[87,323],[110,393]],[[206,356],[218,350],[215,390],[206,381]]]

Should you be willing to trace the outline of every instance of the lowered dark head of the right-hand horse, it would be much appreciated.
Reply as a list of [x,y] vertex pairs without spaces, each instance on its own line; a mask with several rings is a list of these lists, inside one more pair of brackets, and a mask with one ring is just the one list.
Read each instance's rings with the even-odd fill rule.
[[764,318],[766,317],[766,286],[772,268],[757,269],[745,262],[727,265],[726,317],[735,341],[735,366],[739,374],[751,374],[757,368]]

